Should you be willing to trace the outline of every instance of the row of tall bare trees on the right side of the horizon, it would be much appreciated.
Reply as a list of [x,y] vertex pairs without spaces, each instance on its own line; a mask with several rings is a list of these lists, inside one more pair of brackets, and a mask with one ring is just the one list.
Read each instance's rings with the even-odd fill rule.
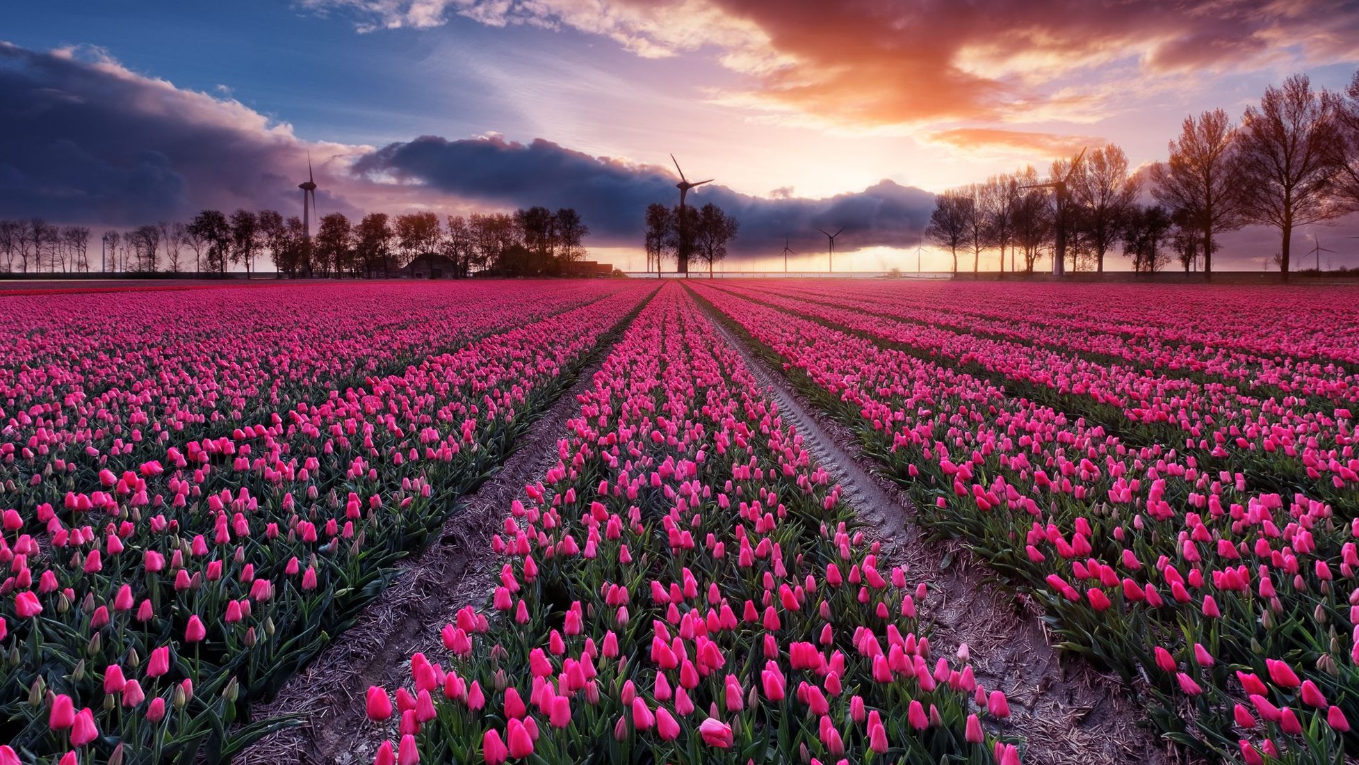
[[[1222,234],[1263,224],[1280,232],[1275,265],[1287,274],[1295,228],[1359,211],[1359,72],[1343,92],[1294,75],[1239,122],[1222,109],[1186,117],[1169,155],[1133,174],[1109,144],[1055,160],[1046,177],[1030,166],[950,189],[925,235],[954,272],[959,255],[978,270],[983,253],[1003,272],[1007,251],[1011,272],[1033,272],[1061,242],[1072,270],[1102,272],[1121,251],[1139,272],[1201,260],[1211,273]],[[1144,181],[1152,204],[1139,201]]]

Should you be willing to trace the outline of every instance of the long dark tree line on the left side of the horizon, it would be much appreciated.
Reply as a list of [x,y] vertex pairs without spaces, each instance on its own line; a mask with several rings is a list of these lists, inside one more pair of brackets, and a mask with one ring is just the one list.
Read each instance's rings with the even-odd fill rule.
[[[280,276],[393,276],[425,255],[444,255],[453,276],[556,276],[584,258],[590,228],[573,208],[448,215],[371,212],[359,221],[333,212],[308,238],[302,219],[272,209],[230,215],[204,209],[188,223],[109,230],[91,243],[83,226],[0,220],[0,269],[11,273],[253,273],[269,258]],[[192,266],[192,268],[190,268]]]

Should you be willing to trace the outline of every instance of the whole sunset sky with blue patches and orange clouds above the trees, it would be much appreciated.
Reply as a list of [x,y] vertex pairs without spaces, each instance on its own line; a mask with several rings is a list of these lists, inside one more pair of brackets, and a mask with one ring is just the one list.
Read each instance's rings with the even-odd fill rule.
[[[641,211],[742,221],[727,268],[912,270],[934,194],[1083,145],[1165,158],[1186,114],[1239,118],[1359,68],[1355,0],[288,0],[7,7],[0,217],[95,228],[204,207],[322,213],[575,207],[643,268]],[[1321,238],[1359,265],[1359,220]],[[1261,268],[1277,234],[1224,239]],[[923,265],[943,268],[927,249]],[[1128,268],[1121,257],[1114,268]],[[1322,264],[1325,265],[1325,262]]]

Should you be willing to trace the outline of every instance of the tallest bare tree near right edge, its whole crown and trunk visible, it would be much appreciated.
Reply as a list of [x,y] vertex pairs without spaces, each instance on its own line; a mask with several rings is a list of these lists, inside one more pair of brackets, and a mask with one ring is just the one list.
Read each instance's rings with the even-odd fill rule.
[[1339,217],[1332,197],[1340,173],[1336,101],[1311,90],[1306,75],[1265,88],[1241,126],[1242,207],[1253,223],[1279,228],[1279,269],[1288,279],[1292,230]]

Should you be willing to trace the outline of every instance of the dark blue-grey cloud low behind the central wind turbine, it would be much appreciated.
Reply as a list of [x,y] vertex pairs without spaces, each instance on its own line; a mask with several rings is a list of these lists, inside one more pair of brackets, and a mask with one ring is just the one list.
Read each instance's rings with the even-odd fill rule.
[[[507,207],[573,207],[599,245],[636,246],[643,209],[678,202],[677,178],[662,167],[590,156],[542,139],[522,144],[423,136],[359,159],[355,171]],[[815,227],[841,226],[845,249],[915,245],[934,209],[934,194],[892,181],[828,198],[766,198],[712,185],[692,192],[689,200],[712,201],[741,220],[738,251],[781,247],[784,236],[807,241],[821,236]]]

